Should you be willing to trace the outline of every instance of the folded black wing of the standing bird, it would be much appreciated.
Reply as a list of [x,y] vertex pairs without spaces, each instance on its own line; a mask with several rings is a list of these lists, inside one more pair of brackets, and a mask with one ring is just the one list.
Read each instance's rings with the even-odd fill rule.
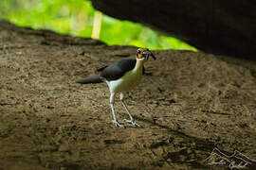
[[137,59],[121,59],[117,62],[101,67],[98,71],[102,71],[101,76],[108,81],[117,80],[126,72],[133,70],[136,66],[136,61]]

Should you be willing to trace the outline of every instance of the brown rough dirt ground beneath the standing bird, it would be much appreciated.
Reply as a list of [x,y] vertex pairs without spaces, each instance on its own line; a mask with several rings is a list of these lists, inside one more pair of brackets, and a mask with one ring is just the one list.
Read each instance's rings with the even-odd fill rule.
[[[143,127],[115,127],[106,84],[82,76],[136,47],[0,22],[0,170],[229,169],[214,148],[238,150],[256,169],[256,62],[190,51],[153,51],[126,96]],[[216,156],[216,155],[215,155]]]

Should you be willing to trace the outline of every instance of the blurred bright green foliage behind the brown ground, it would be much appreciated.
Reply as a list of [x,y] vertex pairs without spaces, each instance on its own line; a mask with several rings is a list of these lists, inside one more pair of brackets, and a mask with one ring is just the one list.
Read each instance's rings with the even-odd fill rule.
[[[91,37],[95,9],[88,0],[1,0],[0,18],[18,26],[51,29],[80,37]],[[150,49],[196,50],[185,42],[167,37],[149,27],[102,17],[100,40]]]

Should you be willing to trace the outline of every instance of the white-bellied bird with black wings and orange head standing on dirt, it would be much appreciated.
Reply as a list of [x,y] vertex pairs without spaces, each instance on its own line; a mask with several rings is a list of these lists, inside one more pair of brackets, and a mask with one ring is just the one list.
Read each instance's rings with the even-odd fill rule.
[[144,62],[152,57],[156,59],[154,54],[148,48],[137,48],[136,59],[124,58],[119,61],[109,63],[97,69],[100,75],[87,76],[76,81],[80,84],[101,83],[106,82],[110,92],[110,108],[113,114],[113,123],[116,127],[124,127],[120,124],[117,114],[114,109],[115,97],[119,93],[119,99],[122,106],[129,115],[130,120],[125,119],[126,122],[135,127],[141,127],[137,124],[126,103],[124,102],[124,93],[129,92],[135,88],[141,79],[145,69]]

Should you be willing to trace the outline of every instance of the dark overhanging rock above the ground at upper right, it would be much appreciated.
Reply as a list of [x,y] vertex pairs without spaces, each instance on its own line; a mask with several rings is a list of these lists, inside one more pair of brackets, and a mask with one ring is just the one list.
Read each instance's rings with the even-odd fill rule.
[[107,15],[145,24],[198,49],[256,59],[254,1],[241,0],[93,0]]

